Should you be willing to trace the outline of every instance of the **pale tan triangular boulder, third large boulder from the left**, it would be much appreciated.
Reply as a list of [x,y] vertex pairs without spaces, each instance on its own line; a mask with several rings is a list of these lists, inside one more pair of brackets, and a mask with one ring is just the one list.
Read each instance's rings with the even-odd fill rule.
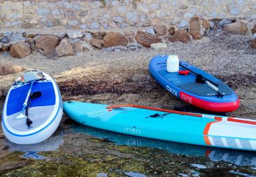
[[59,46],[56,47],[56,52],[59,57],[62,56],[72,56],[75,54],[72,45],[70,44],[70,39],[64,38],[59,43]]

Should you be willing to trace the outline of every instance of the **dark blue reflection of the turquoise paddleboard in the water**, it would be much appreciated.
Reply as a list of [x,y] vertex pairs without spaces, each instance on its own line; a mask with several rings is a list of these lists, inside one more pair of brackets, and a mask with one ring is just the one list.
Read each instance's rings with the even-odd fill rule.
[[72,125],[71,129],[74,133],[87,133],[88,135],[95,136],[96,138],[102,138],[115,142],[115,144],[118,145],[160,148],[177,155],[208,157],[211,161],[227,161],[235,165],[256,165],[256,152],[230,150],[225,148],[211,148],[207,146],[154,140],[151,138],[142,138],[138,136],[115,133],[112,131],[105,131],[102,129],[95,129],[85,125]]

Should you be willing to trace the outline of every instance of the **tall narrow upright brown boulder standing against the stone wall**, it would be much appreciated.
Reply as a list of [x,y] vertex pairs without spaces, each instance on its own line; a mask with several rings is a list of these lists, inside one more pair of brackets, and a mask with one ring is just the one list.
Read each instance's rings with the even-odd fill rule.
[[201,35],[201,18],[194,16],[190,19],[189,33],[193,36],[193,39],[198,40],[202,38]]

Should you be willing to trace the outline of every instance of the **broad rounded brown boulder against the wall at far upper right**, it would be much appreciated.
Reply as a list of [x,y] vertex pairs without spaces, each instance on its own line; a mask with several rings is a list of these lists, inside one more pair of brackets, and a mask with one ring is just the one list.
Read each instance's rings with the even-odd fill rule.
[[247,31],[247,27],[246,24],[244,22],[240,22],[240,21],[236,21],[233,22],[229,25],[225,25],[225,27],[223,27],[223,31],[225,33],[229,33],[232,35],[246,35],[246,31]]

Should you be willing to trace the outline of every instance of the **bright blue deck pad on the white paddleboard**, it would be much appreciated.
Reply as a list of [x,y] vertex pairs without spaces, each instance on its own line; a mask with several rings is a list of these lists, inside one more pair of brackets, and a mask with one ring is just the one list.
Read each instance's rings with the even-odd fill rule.
[[[31,84],[26,84],[18,88],[14,88],[8,97],[7,116],[20,112],[23,109],[23,103],[27,97]],[[40,91],[42,96],[31,101],[29,108],[38,106],[54,106],[56,97],[52,82],[35,82],[32,86],[31,93]]]

